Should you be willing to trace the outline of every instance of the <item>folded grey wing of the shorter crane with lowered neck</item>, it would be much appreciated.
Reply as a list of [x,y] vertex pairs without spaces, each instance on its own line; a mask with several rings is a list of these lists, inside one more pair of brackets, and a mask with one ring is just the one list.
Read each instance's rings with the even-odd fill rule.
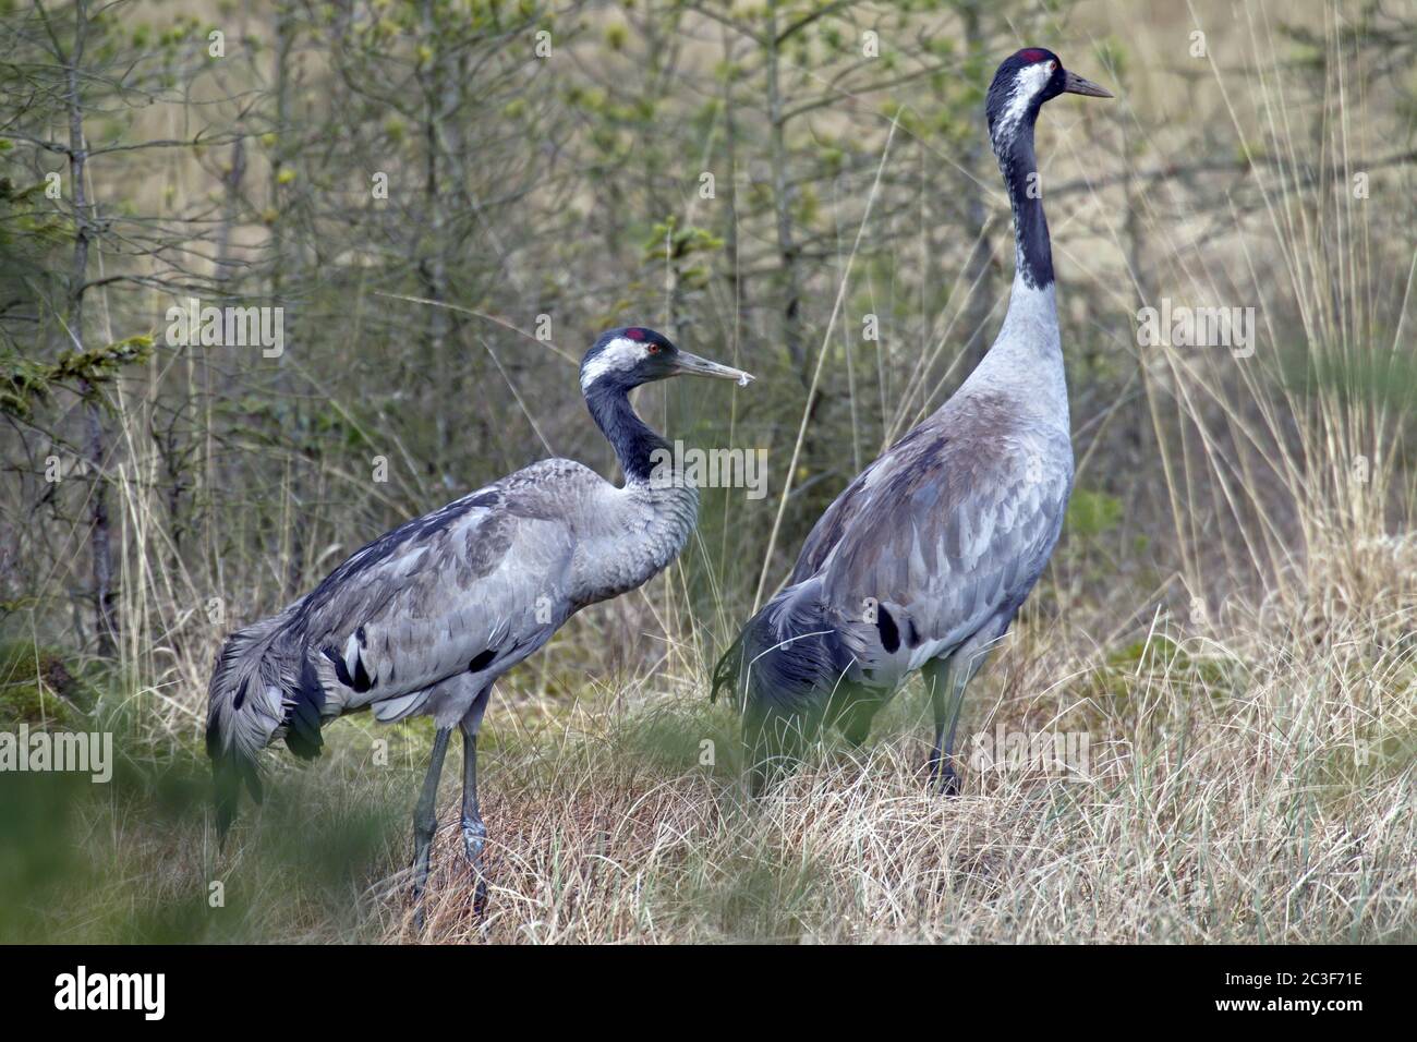
[[461,672],[504,672],[570,614],[578,464],[544,461],[394,529],[300,605],[326,715],[411,715]]

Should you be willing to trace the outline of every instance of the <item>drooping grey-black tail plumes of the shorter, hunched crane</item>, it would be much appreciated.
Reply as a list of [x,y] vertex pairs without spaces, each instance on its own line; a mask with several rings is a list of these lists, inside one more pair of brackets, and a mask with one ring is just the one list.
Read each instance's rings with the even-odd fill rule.
[[261,802],[256,756],[276,732],[296,756],[320,753],[324,693],[313,666],[289,635],[293,607],[238,629],[221,649],[207,690],[207,756],[215,783],[217,829],[225,836],[241,784]]

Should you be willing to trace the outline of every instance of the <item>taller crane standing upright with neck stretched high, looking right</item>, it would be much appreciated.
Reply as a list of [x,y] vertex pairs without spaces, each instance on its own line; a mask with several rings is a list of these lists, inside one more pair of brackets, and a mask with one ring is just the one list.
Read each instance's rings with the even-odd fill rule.
[[1047,564],[1073,485],[1067,384],[1033,125],[1060,94],[1111,98],[1030,47],[986,101],[1013,207],[1015,276],[999,337],[959,390],[863,471],[812,529],[788,586],[714,671],[744,715],[752,788],[823,723],[856,743],[921,669],[931,781],[958,792],[951,754],[965,686]]

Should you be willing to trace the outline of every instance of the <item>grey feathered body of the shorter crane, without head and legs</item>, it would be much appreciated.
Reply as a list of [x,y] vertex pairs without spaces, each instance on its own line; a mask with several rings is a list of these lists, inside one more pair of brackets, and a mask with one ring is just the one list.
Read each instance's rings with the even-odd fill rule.
[[[272,658],[295,658],[292,676],[313,669],[322,722],[368,709],[384,723],[422,715],[451,727],[572,614],[662,571],[697,510],[691,485],[619,488],[543,459],[359,550],[272,620]],[[230,715],[232,740],[259,750],[298,726],[288,689],[248,692],[265,699],[254,715],[218,702],[217,719]],[[265,732],[264,719],[279,723]]]

